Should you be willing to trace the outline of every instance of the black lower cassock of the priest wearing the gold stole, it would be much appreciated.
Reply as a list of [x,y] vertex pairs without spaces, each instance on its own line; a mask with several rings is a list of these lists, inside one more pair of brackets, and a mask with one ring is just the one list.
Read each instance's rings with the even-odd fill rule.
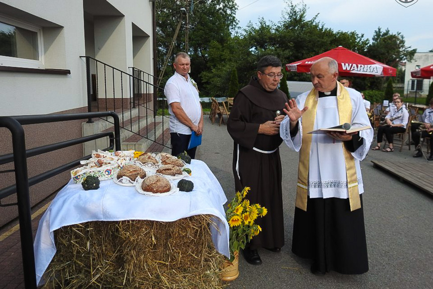
[[364,213],[350,211],[349,199],[308,197],[307,211],[295,208],[292,252],[313,260],[322,273],[368,271]]

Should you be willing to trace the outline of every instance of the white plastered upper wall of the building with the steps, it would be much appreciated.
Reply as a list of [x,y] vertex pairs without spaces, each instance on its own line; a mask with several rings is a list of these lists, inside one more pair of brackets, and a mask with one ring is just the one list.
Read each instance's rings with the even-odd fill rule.
[[[103,58],[100,60],[124,72],[130,72],[128,67],[134,66],[131,23],[133,22],[142,31],[152,36],[152,3],[148,0],[107,0],[107,2],[125,16],[119,17],[120,26],[114,29],[114,35],[108,37],[107,46],[98,51],[98,43],[95,42],[94,56],[97,59]],[[59,26],[43,29],[45,51],[43,68],[69,69],[71,74],[0,71],[0,87],[2,87],[0,116],[49,114],[86,107],[85,59],[80,58],[86,55],[83,1],[0,0],[1,3]],[[102,37],[95,35],[99,41],[103,41]],[[153,73],[152,45],[147,45],[146,48],[150,48],[146,63],[135,65],[146,72]],[[110,50],[119,53],[111,53]]]

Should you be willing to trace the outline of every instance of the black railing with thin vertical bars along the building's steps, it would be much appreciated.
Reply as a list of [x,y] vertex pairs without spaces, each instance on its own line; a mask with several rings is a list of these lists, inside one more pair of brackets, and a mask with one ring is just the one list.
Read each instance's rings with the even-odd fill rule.
[[[150,81],[155,76],[134,67],[130,67],[130,74],[91,56],[80,57],[86,61],[88,112],[115,111],[119,115],[121,128],[169,148],[166,145],[168,139],[164,135],[168,128],[168,105],[164,89]],[[136,110],[138,114],[137,129],[132,126],[132,110]],[[153,129],[154,133],[150,135],[149,120],[153,118],[156,124],[157,117],[163,119],[161,137],[157,135],[156,129]],[[129,123],[125,121],[128,118]],[[89,119],[88,122],[91,123],[92,120]]]

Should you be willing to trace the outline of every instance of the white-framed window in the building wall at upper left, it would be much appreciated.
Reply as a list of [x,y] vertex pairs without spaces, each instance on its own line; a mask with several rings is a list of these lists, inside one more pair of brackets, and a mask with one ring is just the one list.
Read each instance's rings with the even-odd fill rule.
[[0,65],[43,67],[42,29],[0,16]]

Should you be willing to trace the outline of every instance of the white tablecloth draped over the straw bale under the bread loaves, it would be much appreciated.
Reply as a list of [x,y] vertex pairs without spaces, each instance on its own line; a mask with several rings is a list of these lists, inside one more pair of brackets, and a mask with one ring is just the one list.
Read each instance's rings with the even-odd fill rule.
[[[134,186],[121,186],[112,179],[101,181],[97,190],[84,190],[71,179],[39,221],[34,242],[37,283],[56,253],[54,231],[90,221],[172,222],[194,215],[213,215],[218,228],[211,226],[215,248],[230,257],[224,191],[206,163],[192,160],[187,166],[191,168],[192,176],[186,178],[194,182],[194,190],[164,197],[140,195]],[[178,180],[173,182],[177,184]]]

